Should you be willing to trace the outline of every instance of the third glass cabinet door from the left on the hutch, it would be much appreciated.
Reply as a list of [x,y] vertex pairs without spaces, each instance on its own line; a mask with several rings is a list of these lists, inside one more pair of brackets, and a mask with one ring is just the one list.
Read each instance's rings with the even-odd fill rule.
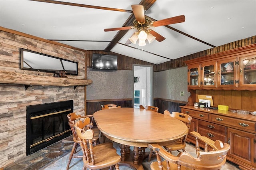
[[238,87],[237,59],[218,61],[218,87]]

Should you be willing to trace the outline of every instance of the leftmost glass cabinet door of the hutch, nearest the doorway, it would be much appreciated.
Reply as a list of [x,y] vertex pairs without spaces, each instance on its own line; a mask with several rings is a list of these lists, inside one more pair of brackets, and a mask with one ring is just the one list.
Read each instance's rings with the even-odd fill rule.
[[188,85],[191,87],[200,87],[200,77],[199,77],[200,66],[192,65],[188,67]]

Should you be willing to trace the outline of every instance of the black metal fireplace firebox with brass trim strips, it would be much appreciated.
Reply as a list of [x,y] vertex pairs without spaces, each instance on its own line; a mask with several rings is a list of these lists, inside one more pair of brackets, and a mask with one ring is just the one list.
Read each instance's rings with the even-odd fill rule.
[[27,106],[26,155],[71,135],[67,115],[73,101]]

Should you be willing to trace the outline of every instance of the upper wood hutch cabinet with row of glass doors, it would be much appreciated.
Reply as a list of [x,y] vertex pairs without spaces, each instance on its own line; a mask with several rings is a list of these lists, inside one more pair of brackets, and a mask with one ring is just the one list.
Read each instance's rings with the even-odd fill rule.
[[184,62],[188,89],[256,90],[256,44]]

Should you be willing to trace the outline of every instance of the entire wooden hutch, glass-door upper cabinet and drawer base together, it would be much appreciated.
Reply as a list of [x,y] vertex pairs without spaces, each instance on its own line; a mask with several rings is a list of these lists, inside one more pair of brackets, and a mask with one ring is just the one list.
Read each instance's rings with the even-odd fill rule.
[[[256,116],[230,111],[256,111],[256,44],[184,62],[190,97],[180,107],[193,118],[190,131],[230,144],[228,160],[241,169],[256,169]],[[213,106],[230,110],[194,107],[198,95],[210,95]],[[195,142],[192,136],[187,140]]]

